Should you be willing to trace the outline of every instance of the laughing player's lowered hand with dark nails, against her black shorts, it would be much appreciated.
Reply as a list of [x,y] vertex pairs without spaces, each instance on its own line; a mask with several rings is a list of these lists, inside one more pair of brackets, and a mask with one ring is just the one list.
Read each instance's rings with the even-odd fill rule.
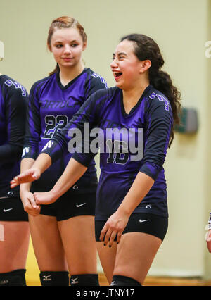
[[124,228],[128,223],[128,219],[129,215],[120,213],[120,211],[116,211],[115,213],[113,213],[113,215],[110,216],[101,231],[101,242],[104,241],[105,246],[109,243],[109,246],[111,247],[117,235],[118,244],[122,237],[122,232],[124,231]]

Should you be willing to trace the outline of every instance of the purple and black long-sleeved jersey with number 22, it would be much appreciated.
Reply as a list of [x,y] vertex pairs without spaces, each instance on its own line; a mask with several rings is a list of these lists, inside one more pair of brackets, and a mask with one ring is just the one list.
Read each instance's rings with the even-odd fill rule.
[[[48,140],[67,125],[85,99],[103,88],[107,88],[106,81],[89,68],[84,68],[81,74],[65,86],[60,83],[59,73],[35,82],[30,91],[22,158],[36,159]],[[32,190],[41,192],[51,189],[58,177],[62,175],[71,156],[70,153],[61,156],[41,175],[39,180],[33,182]],[[91,192],[96,189],[96,185],[96,168],[93,159],[87,172],[79,179],[77,185],[72,187],[74,189],[72,192]]]

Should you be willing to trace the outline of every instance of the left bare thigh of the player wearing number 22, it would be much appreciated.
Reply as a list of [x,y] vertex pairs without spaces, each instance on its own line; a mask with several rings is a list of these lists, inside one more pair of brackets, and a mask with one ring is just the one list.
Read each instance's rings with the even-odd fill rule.
[[56,217],[29,216],[34,254],[41,271],[68,270]]

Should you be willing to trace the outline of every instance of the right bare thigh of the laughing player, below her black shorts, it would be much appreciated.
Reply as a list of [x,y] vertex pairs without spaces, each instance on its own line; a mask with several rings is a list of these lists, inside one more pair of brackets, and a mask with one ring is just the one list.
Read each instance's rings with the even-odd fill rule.
[[162,240],[143,232],[122,235],[117,246],[114,275],[132,277],[143,284]]

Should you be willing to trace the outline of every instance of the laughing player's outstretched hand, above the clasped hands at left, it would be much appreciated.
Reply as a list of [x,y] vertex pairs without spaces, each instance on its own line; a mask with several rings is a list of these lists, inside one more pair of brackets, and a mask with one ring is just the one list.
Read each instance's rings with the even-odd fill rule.
[[23,173],[20,173],[18,176],[14,177],[11,180],[11,188],[17,187],[21,183],[32,182],[34,180],[39,179],[40,171],[37,168],[30,168],[29,170],[25,170]]

